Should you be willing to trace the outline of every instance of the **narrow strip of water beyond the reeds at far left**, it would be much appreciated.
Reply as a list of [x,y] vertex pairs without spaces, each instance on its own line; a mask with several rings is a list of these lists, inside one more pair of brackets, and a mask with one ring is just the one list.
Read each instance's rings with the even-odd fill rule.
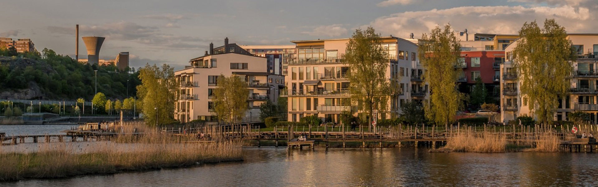
[[71,129],[78,125],[0,125],[0,132],[11,135],[44,135],[65,134],[60,131]]

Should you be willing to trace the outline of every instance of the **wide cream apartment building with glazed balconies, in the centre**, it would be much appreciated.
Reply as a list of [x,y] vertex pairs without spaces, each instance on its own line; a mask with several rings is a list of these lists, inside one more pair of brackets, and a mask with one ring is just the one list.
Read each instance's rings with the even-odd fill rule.
[[[429,98],[428,85],[422,81],[423,68],[417,60],[417,44],[397,37],[382,37],[388,50],[388,79],[399,80],[397,95],[389,95],[389,113],[379,118],[390,118],[401,112],[408,101],[424,102]],[[349,38],[331,40],[291,41],[297,48],[297,58],[288,64],[286,89],[280,96],[288,98],[288,121],[297,122],[304,116],[315,115],[327,122],[338,122],[342,111],[350,108],[348,99],[351,67],[344,64],[344,53]]]

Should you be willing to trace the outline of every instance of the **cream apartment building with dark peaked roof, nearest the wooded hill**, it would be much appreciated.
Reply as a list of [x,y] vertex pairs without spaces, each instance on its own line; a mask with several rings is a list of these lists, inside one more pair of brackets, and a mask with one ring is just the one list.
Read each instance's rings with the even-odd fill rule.
[[269,73],[266,58],[254,56],[237,44],[229,44],[228,38],[221,47],[210,43],[209,52],[189,63],[190,66],[175,72],[181,83],[175,119],[181,122],[214,119],[212,96],[220,75],[237,76],[247,82],[249,110],[246,117],[259,116],[260,104],[269,99],[276,102],[284,86],[283,76]]

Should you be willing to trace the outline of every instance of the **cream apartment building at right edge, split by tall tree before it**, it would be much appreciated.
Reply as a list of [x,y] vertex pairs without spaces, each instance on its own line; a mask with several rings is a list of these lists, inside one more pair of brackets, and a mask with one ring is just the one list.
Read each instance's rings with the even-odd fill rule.
[[[568,120],[569,113],[584,111],[590,113],[590,122],[598,122],[598,34],[569,34],[577,59],[571,62],[573,73],[569,94],[559,99],[559,107],[554,113],[554,120]],[[511,52],[517,40],[507,46],[507,61],[501,65],[501,118],[513,120],[517,116],[533,116],[527,99],[520,92],[517,71],[512,68]]]

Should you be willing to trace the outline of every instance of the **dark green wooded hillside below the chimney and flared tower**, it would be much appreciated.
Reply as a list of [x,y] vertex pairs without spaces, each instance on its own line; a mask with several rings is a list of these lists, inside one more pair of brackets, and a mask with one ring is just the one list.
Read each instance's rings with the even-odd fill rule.
[[80,64],[66,55],[50,49],[17,53],[14,49],[0,49],[0,99],[77,99],[90,100],[97,92],[108,98],[127,98],[136,95],[140,81],[138,73],[118,71],[114,65]]

